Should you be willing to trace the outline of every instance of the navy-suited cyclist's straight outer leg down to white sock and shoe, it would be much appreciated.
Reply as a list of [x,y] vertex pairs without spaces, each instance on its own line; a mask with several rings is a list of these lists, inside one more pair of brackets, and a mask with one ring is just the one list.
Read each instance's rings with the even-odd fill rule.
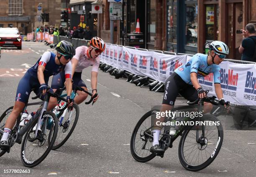
[[22,112],[26,102],[28,102],[29,95],[31,93],[31,78],[29,73],[25,74],[20,80],[16,92],[15,104],[13,107],[13,111],[10,113],[10,116],[7,118],[5,122],[5,132],[1,138],[1,147],[8,146],[8,134],[13,129],[17,117]]

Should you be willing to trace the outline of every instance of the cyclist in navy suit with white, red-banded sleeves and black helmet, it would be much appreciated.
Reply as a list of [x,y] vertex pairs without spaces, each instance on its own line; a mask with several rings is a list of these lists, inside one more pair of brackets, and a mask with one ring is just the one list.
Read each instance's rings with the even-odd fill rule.
[[[44,95],[49,77],[57,75],[62,70],[65,72],[67,83],[67,100],[72,104],[72,100],[70,100],[72,92],[72,64],[70,60],[75,55],[75,49],[72,43],[63,40],[56,46],[56,51],[56,54],[53,52],[44,52],[36,64],[29,68],[21,78],[17,88],[13,111],[5,123],[4,133],[0,141],[1,149],[9,147],[8,135],[15,125],[17,117],[28,102],[31,91],[33,90],[36,94],[42,92]],[[43,100],[43,97],[41,99]],[[51,110],[56,104],[56,98],[51,97],[47,110]]]

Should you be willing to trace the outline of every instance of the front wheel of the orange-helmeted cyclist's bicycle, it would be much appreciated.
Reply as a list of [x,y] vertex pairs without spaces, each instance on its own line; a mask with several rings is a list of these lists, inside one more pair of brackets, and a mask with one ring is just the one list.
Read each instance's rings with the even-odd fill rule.
[[[64,143],[69,139],[74,128],[77,125],[79,118],[79,106],[76,103],[73,103],[72,107],[67,108],[67,112],[64,115],[63,119],[61,117],[58,120],[58,135],[54,142],[52,150],[60,148]],[[61,122],[60,122],[61,121]]]

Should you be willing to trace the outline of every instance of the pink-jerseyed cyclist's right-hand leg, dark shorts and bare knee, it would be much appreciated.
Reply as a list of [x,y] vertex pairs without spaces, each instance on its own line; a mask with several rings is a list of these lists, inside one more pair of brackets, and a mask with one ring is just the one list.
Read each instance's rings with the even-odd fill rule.
[[[81,78],[81,75],[82,72],[74,72],[73,82],[75,85],[82,87],[84,90],[88,91],[84,81]],[[88,94],[82,91],[77,91],[77,94],[78,96],[74,98],[74,102],[77,103],[77,105],[79,105],[87,98]]]

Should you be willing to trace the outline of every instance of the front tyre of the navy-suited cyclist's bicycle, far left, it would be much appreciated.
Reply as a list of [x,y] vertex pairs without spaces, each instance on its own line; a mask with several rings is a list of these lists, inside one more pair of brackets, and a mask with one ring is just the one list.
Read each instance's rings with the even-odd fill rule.
[[[25,137],[23,138],[23,142],[22,142],[22,145],[21,145],[21,151],[20,151],[21,161],[22,161],[23,165],[26,166],[26,167],[35,167],[36,165],[40,164],[47,157],[47,155],[51,151],[52,146],[54,145],[54,141],[56,139],[57,132],[58,132],[57,117],[53,112],[49,112],[49,111],[45,111],[44,114],[42,115],[42,117],[44,117],[44,116],[49,117],[48,120],[52,119],[54,121],[52,123],[52,125],[54,127],[54,132],[53,132],[53,135],[51,136],[52,141],[51,141],[51,143],[48,144],[48,147],[46,146],[47,149],[41,157],[39,157],[37,160],[32,161],[32,162],[28,161],[27,158],[26,158],[26,150],[25,150],[26,142],[28,142],[28,136],[31,133],[31,129],[33,129],[33,127],[36,125],[37,121],[34,121],[33,123],[31,123],[31,125],[28,127],[28,131],[26,132]],[[38,119],[36,119],[36,120],[38,120]],[[50,133],[49,133],[49,135],[50,135]]]

